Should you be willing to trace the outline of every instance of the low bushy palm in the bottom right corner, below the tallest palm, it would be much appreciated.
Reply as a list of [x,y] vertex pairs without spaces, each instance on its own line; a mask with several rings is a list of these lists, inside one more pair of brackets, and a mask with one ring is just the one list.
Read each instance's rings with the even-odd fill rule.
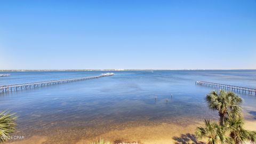
[[228,118],[227,128],[230,131],[230,137],[236,144],[250,141],[256,142],[256,131],[249,131],[243,128],[244,122],[241,116],[235,118]]

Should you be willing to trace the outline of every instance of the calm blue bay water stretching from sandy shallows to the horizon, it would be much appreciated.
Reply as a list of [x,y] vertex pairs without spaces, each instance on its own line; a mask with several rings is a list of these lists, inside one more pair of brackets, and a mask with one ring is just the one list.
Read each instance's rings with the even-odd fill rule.
[[[0,77],[0,85],[97,76],[107,72],[9,72],[10,77]],[[188,119],[189,123],[193,118],[217,117],[204,100],[205,94],[213,88],[195,85],[195,81],[256,87],[256,70],[113,73],[115,75],[110,77],[0,94],[0,110],[17,113],[19,135],[49,136],[71,132],[74,134],[65,137],[77,139],[122,129],[125,124],[129,126],[129,122],[137,122],[132,126],[161,122],[179,124],[180,119]],[[249,119],[255,118],[255,95],[239,95],[244,99],[244,114]]]

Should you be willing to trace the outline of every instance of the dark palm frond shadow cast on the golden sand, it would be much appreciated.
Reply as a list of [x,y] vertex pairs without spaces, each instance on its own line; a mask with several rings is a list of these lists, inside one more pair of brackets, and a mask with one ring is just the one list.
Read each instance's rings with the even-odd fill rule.
[[181,134],[180,137],[173,137],[172,139],[175,140],[175,144],[205,144],[202,141],[198,141],[196,135],[190,133]]

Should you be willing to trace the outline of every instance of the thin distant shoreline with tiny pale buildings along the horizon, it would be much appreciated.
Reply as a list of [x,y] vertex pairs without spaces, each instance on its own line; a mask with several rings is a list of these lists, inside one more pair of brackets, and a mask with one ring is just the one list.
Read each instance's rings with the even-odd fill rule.
[[145,71],[145,70],[256,70],[256,69],[3,69],[0,70],[2,72],[5,71]]

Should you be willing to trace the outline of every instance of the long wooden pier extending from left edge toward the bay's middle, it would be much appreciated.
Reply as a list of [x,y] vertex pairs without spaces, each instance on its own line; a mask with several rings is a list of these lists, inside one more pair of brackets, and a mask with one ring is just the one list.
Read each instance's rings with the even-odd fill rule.
[[35,87],[45,86],[45,85],[54,85],[60,83],[68,83],[68,82],[75,82],[75,81],[84,81],[86,79],[94,79],[100,78],[105,76],[112,76],[113,73],[101,74],[99,76],[92,76],[92,77],[80,77],[80,78],[70,78],[70,79],[60,79],[57,81],[45,81],[45,82],[36,82],[36,83],[25,83],[25,84],[13,84],[13,85],[3,85],[0,86],[0,93],[7,93],[12,91],[18,91],[22,89],[34,89]]

